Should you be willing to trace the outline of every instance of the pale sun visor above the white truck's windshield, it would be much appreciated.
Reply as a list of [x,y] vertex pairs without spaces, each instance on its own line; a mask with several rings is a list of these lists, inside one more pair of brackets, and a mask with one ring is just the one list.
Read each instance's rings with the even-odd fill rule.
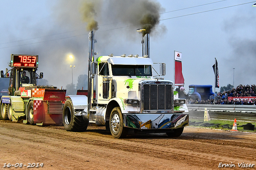
[[113,65],[153,65],[152,60],[145,57],[110,57],[108,62]]

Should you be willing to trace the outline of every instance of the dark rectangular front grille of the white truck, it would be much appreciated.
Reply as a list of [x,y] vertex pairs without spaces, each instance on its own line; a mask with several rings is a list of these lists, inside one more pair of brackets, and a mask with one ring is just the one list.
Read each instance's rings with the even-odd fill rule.
[[172,84],[144,84],[144,110],[172,110]]

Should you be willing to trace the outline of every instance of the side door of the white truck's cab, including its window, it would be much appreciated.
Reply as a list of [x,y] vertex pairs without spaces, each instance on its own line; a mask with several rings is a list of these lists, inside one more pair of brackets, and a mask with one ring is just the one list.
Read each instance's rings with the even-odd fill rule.
[[111,79],[109,77],[109,63],[99,62],[98,63],[98,99],[109,100]]

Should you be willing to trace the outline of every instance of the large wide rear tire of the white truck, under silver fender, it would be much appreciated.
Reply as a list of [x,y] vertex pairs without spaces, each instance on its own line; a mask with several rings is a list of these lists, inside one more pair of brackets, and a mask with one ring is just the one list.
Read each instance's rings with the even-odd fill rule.
[[63,125],[65,130],[71,132],[84,132],[89,121],[85,121],[82,116],[74,116],[74,107],[71,99],[67,99],[63,106]]

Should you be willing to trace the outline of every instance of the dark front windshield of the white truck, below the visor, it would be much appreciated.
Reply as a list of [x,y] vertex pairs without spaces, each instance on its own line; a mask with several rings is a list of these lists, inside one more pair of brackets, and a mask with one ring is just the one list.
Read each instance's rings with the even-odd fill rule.
[[152,76],[151,65],[111,65],[113,75]]

